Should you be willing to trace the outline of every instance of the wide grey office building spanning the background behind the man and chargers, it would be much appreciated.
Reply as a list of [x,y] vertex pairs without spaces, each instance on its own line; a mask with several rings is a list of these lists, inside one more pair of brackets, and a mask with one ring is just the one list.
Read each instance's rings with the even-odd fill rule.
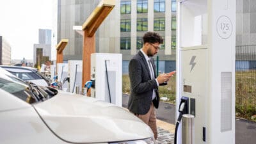
[[[256,51],[256,1],[236,1],[236,45],[237,48],[251,47],[253,53]],[[73,26],[83,25],[99,2],[100,0],[58,1],[57,41],[60,42],[61,38],[69,39],[63,51],[64,61],[82,60],[83,36],[74,31]],[[96,52],[122,53],[123,73],[127,74],[129,60],[143,45],[143,34],[146,31],[156,31],[164,38],[164,44],[157,54],[159,71],[175,70],[176,3],[176,0],[116,0],[115,8],[97,30]],[[244,57],[244,52],[241,49],[239,51],[237,56],[243,54]],[[256,58],[250,60],[254,59]],[[254,62],[250,63],[248,65],[254,67]]]

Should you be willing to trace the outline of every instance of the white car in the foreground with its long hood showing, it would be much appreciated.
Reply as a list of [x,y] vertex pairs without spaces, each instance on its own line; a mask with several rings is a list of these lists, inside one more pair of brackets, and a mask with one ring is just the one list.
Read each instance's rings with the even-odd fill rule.
[[156,143],[150,127],[124,108],[25,83],[3,68],[0,95],[1,144]]

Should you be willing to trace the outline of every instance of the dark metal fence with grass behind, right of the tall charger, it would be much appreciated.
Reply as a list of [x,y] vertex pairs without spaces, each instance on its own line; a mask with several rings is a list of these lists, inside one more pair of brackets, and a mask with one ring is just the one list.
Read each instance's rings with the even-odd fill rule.
[[236,114],[256,120],[256,45],[236,46]]

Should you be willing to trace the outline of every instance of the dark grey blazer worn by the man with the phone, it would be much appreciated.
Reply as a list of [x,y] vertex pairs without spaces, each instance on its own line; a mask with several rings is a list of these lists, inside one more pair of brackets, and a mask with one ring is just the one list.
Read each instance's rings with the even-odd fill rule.
[[[156,65],[151,59],[155,78]],[[132,113],[145,115],[152,102],[153,89],[156,89],[156,98],[153,100],[155,108],[159,105],[158,86],[155,79],[151,79],[148,63],[141,51],[129,63],[129,77],[131,81],[131,95],[128,100],[128,109]]]

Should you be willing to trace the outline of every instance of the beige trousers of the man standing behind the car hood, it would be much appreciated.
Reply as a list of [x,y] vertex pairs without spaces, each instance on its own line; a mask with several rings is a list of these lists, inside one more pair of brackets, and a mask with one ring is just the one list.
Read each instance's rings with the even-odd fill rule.
[[145,115],[138,115],[135,113],[134,115],[138,116],[138,118],[140,118],[152,129],[152,131],[154,132],[154,138],[157,139],[156,111],[153,102],[151,102],[148,113],[146,113]]

